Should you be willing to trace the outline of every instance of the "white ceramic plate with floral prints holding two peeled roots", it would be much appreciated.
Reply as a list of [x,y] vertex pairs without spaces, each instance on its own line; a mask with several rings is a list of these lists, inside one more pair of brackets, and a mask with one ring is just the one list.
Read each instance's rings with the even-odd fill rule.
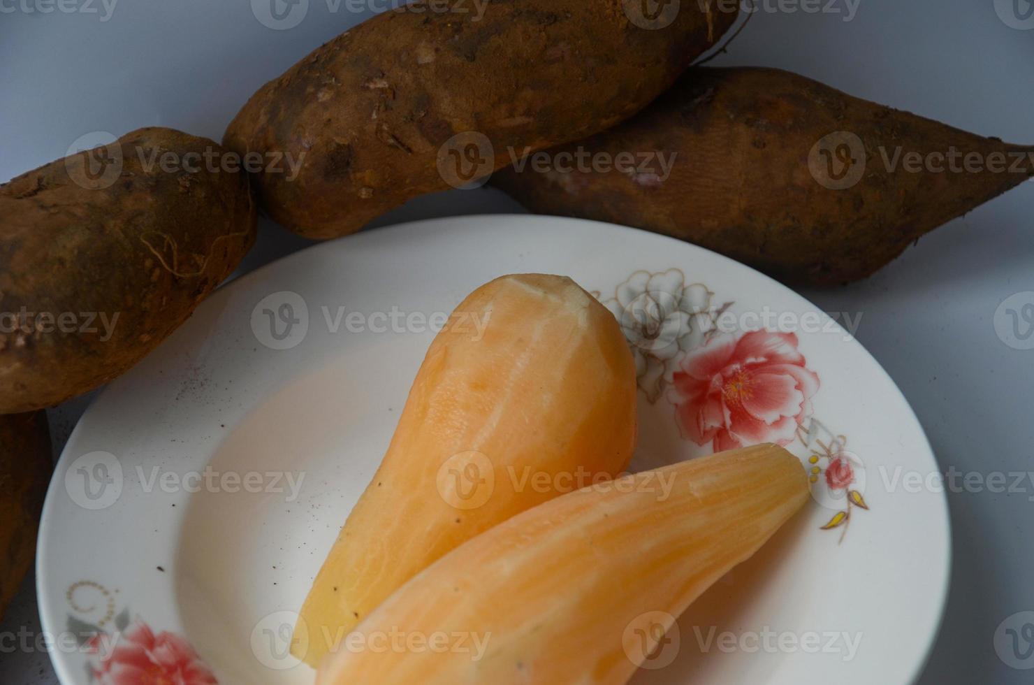
[[[940,622],[950,538],[944,497],[915,486],[937,465],[890,379],[814,305],[735,262],[527,216],[421,221],[297,254],[217,292],[113,383],[68,441],[40,530],[61,681],[151,668],[185,685],[311,682],[284,656],[292,612],[379,463],[434,325],[481,284],[527,271],[667,322],[657,337],[649,316],[627,319],[642,370],[635,468],[765,439],[815,472],[808,510],[694,604],[650,665],[670,663],[635,682],[911,683]],[[725,370],[686,397],[676,388],[701,356]],[[723,397],[701,435],[701,411]]]

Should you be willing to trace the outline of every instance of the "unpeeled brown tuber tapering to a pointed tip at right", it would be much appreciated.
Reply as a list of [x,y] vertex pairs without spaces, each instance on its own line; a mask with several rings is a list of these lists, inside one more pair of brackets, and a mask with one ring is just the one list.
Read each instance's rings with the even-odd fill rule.
[[[809,166],[813,147],[834,131],[854,132],[865,149],[864,174],[846,189],[823,186]],[[1025,173],[910,173],[899,160],[890,172],[881,146],[890,159],[896,146],[922,154],[954,146],[984,157],[1032,150],[787,71],[696,68],[634,119],[550,151],[677,153],[667,180],[525,167],[522,173],[507,169],[492,181],[536,212],[648,229],[786,282],[837,286],[872,274],[923,234],[1027,180],[1034,169],[1028,159]],[[840,161],[834,169],[843,172]]]

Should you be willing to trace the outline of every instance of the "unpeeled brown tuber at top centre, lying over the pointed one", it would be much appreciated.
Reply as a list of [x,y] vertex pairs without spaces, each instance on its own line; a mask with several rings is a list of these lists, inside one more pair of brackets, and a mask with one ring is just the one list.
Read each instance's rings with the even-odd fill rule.
[[[440,1],[440,0],[439,0]],[[255,177],[264,209],[309,238],[354,233],[405,201],[450,184],[444,144],[479,131],[483,173],[527,147],[603,130],[645,107],[735,21],[735,5],[682,1],[674,22],[629,21],[644,0],[489,0],[460,11],[387,11],[266,84],[230,124],[241,153],[298,159],[300,175]],[[650,3],[646,3],[650,6]],[[665,5],[662,5],[665,6]]]

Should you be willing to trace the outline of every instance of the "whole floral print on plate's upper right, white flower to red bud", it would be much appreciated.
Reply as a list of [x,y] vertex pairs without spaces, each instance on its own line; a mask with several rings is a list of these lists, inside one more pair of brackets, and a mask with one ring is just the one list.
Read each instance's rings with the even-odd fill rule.
[[843,529],[843,541],[852,511],[869,509],[858,484],[864,467],[846,437],[815,419],[821,383],[795,333],[721,330],[734,303],[716,304],[713,292],[675,268],[636,271],[600,299],[629,341],[640,390],[650,404],[671,403],[683,439],[712,452],[803,447],[813,496],[837,509],[822,530]]

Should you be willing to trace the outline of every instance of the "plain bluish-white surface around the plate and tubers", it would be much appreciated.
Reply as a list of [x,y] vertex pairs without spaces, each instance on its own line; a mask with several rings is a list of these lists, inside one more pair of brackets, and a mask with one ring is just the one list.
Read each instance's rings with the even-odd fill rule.
[[[35,8],[35,0],[0,0],[0,180],[64,156],[95,130],[164,125],[218,140],[260,85],[370,13],[349,12],[343,2],[332,12],[326,0],[309,0],[296,28],[275,31],[244,0],[121,0],[108,21],[100,0],[66,1],[97,11],[29,12],[23,7]],[[774,10],[758,12],[713,64],[788,68],[975,132],[1034,142],[1034,30],[1008,27],[993,0],[860,0],[851,21],[846,0],[831,2],[837,13],[779,11],[777,0],[760,1]],[[1024,8],[1027,0],[1018,2]],[[1028,182],[864,282],[804,293],[828,311],[861,312],[858,338],[915,408],[942,470],[982,478],[1034,471],[1034,351],[1007,347],[994,328],[1002,300],[1034,291],[1032,207]],[[453,191],[377,224],[512,211],[520,210],[494,190]],[[306,244],[264,224],[243,270]],[[57,449],[87,403],[51,412]],[[1032,672],[997,656],[995,633],[1007,617],[1034,609],[1032,500],[1030,481],[1022,493],[949,494],[954,577],[923,685],[1031,682]],[[863,589],[830,578],[816,592]],[[35,631],[30,578],[0,634]],[[56,682],[45,653],[3,652],[0,682]]]

